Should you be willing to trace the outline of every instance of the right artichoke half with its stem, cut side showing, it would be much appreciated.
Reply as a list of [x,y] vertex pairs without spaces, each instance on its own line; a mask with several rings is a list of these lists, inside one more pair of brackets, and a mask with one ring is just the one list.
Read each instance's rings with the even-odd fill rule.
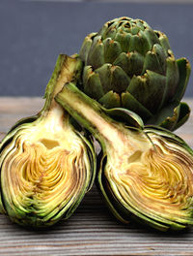
[[[106,111],[71,82],[55,99],[101,144],[97,180],[119,220],[160,231],[193,224],[193,151],[187,144],[164,128],[143,126],[136,113]],[[124,122],[110,117],[121,112]]]

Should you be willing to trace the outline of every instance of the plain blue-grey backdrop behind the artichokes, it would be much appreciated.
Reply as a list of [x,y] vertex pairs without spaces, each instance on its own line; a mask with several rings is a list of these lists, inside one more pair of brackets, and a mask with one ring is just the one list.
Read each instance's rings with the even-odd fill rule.
[[[77,52],[87,34],[117,16],[145,19],[193,66],[191,3],[0,0],[0,96],[42,96],[58,54]],[[192,85],[191,76],[185,96],[193,96]]]

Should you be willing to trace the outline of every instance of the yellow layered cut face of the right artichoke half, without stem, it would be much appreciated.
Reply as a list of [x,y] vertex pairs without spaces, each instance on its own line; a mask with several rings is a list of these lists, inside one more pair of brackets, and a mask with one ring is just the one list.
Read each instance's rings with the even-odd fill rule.
[[149,134],[153,146],[143,133],[135,136],[139,143],[133,148],[126,145],[130,136],[121,140],[122,150],[108,148],[105,176],[114,195],[136,215],[193,223],[192,156],[153,133]]

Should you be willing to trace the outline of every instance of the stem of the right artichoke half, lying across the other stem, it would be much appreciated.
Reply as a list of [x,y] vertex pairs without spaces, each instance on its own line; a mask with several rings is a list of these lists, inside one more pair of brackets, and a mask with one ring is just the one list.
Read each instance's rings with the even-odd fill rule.
[[130,140],[127,142],[128,151],[141,149],[134,132],[126,130],[125,134],[124,126],[121,123],[117,123],[107,116],[95,100],[78,90],[73,83],[67,83],[55,100],[96,137],[103,150],[107,145],[116,150],[125,147],[124,139],[128,134],[130,135]]

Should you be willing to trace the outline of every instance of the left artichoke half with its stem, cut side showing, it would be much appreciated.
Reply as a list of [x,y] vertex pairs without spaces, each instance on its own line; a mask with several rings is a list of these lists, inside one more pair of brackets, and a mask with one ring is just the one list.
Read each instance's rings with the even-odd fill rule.
[[67,219],[95,177],[92,142],[72,126],[54,101],[64,83],[81,70],[76,57],[60,55],[36,116],[18,121],[0,145],[1,212],[29,227]]

